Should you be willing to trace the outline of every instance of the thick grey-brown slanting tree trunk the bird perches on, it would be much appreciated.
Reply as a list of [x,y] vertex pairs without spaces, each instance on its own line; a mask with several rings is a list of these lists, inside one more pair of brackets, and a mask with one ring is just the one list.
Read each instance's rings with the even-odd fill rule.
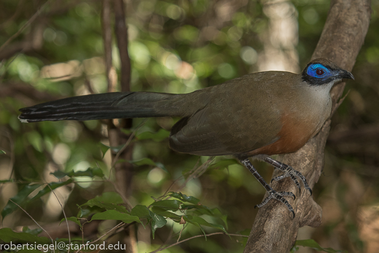
[[[312,59],[327,58],[343,69],[351,71],[363,45],[371,18],[370,0],[332,0],[328,18]],[[345,83],[337,84],[331,91],[332,114],[338,106]],[[293,154],[278,160],[293,166],[306,178],[311,188],[316,184],[324,165],[324,147],[330,130],[327,120],[316,137]],[[275,172],[273,177],[279,172]],[[302,186],[301,194],[290,179],[273,183],[274,189],[292,191],[296,200],[289,199],[295,218],[287,207],[270,201],[260,208],[253,224],[244,253],[286,253],[295,244],[300,227],[318,227],[321,224],[321,207]]]

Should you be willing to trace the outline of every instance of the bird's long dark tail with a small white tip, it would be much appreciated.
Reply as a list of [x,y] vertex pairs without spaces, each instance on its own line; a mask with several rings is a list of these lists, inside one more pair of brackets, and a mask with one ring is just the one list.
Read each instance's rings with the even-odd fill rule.
[[63,98],[20,109],[21,122],[185,115],[185,94],[110,92]]

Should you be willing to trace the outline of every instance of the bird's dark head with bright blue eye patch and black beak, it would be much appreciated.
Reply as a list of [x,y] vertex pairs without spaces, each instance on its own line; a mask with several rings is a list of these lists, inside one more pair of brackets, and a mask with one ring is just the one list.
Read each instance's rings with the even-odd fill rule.
[[339,68],[335,63],[326,59],[316,59],[308,63],[307,67],[301,72],[301,78],[312,86],[333,85],[342,78],[354,80],[352,73]]

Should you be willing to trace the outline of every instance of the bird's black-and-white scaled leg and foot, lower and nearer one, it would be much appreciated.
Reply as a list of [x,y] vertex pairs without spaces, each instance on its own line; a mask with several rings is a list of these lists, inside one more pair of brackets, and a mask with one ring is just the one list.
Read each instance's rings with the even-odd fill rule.
[[281,203],[283,203],[284,205],[286,205],[288,210],[292,212],[295,218],[294,208],[292,208],[290,203],[288,203],[288,201],[285,198],[283,198],[283,196],[292,196],[295,199],[296,197],[294,193],[288,192],[288,191],[279,191],[279,192],[275,191],[273,188],[271,188],[269,184],[266,183],[266,181],[262,178],[262,176],[259,175],[259,173],[256,171],[256,169],[254,168],[253,164],[250,162],[249,159],[240,160],[240,161],[253,174],[253,176],[259,181],[259,183],[261,183],[263,187],[265,187],[266,191],[269,193],[269,196],[265,198],[261,204],[256,205],[255,207],[263,207],[269,202],[270,199],[276,199],[280,201]]

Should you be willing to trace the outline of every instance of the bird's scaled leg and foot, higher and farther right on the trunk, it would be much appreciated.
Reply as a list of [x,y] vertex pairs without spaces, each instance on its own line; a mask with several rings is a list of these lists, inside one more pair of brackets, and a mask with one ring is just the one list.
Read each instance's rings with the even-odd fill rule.
[[301,192],[301,188],[300,188],[300,184],[299,182],[297,181],[297,178],[298,177],[304,184],[304,187],[309,190],[309,192],[311,193],[312,195],[312,189],[311,187],[309,187],[308,183],[307,183],[307,180],[305,179],[305,177],[300,173],[298,172],[297,170],[295,170],[293,167],[285,164],[285,163],[282,163],[280,161],[276,161],[270,157],[265,157],[263,159],[263,161],[266,161],[268,163],[270,163],[271,165],[274,166],[274,168],[278,169],[278,170],[281,170],[283,171],[283,174],[278,176],[278,177],[275,177],[271,180],[271,182],[273,181],[279,181],[279,180],[282,180],[283,178],[287,178],[287,177],[290,177],[296,184],[297,188],[299,188],[299,192]]

